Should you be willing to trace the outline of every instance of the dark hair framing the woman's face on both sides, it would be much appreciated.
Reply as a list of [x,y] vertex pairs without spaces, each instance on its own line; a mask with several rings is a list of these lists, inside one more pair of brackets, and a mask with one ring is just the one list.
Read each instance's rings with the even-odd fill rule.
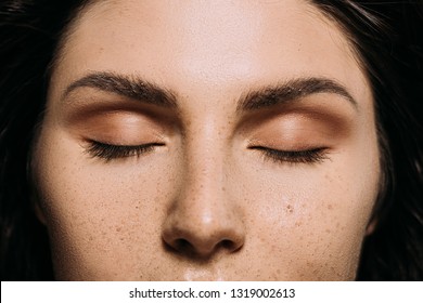
[[[0,277],[52,280],[27,175],[49,66],[89,1],[0,2]],[[357,279],[423,279],[423,3],[309,0],[346,32],[375,98],[383,177]]]

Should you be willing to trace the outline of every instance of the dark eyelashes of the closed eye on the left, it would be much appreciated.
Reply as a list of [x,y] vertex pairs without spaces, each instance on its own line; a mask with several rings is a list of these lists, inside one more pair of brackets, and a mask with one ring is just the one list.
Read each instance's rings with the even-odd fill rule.
[[164,146],[162,143],[148,143],[142,145],[112,145],[91,141],[86,149],[92,158],[101,158],[106,161],[118,158],[140,157],[141,155],[153,152],[157,146]]

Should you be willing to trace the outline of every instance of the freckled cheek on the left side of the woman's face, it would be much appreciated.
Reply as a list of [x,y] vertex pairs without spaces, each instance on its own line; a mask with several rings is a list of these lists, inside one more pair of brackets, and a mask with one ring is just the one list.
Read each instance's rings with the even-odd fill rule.
[[159,200],[175,184],[172,160],[156,161],[161,170],[136,158],[125,160],[133,161],[129,166],[105,164],[60,133],[41,135],[37,149],[35,174],[56,278],[142,279],[140,268],[151,266],[145,255],[161,246]]

